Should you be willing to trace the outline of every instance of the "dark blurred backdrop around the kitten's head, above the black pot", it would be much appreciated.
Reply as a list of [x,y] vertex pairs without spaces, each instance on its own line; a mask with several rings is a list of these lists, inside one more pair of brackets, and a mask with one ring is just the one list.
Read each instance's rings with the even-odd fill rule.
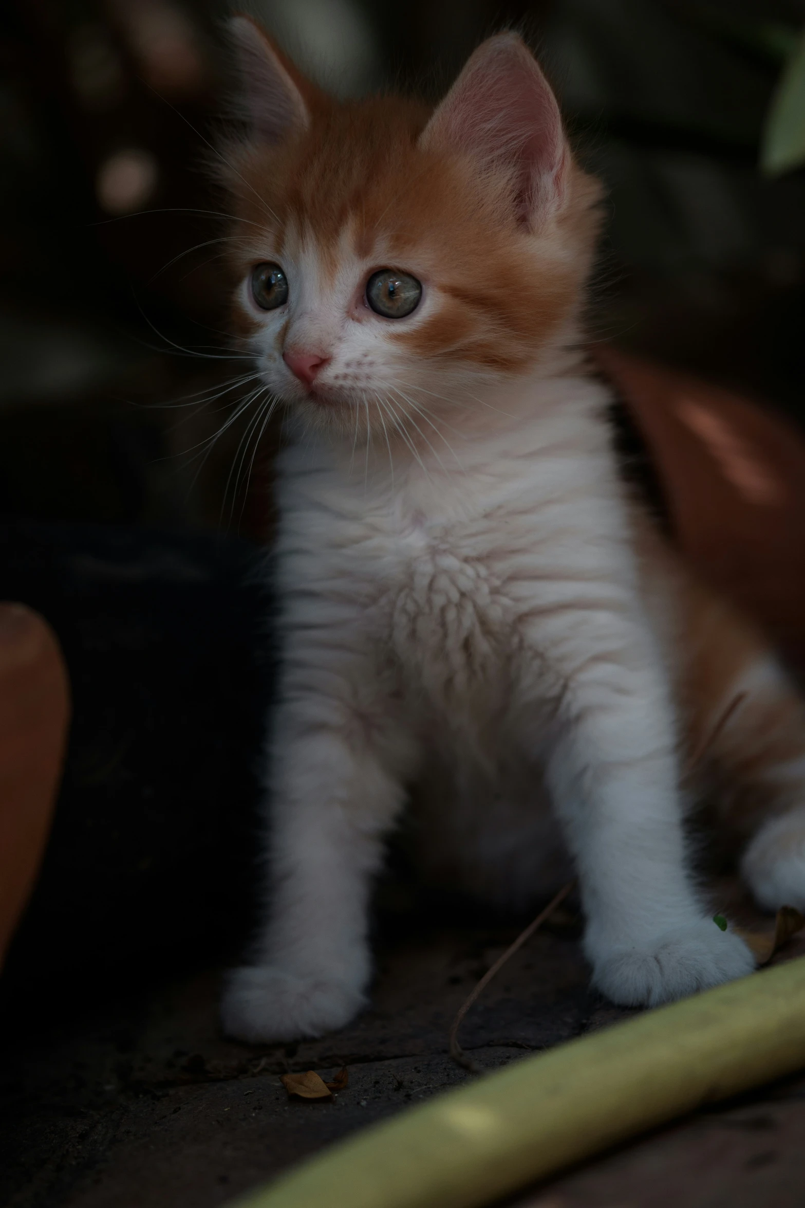
[[[340,94],[436,98],[479,40],[520,29],[607,186],[593,338],[804,418],[805,0],[246,7]],[[264,527],[262,453],[244,489],[247,410],[212,443],[244,372],[205,168],[229,82],[224,16],[223,0],[0,11],[6,515]]]

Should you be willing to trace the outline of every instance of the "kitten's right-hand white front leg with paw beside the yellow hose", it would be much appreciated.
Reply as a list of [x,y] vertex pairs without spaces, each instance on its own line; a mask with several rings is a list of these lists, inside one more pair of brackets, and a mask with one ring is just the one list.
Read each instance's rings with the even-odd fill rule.
[[754,959],[705,912],[686,866],[671,704],[638,621],[577,616],[548,757],[576,858],[595,985],[655,1005],[748,974]]

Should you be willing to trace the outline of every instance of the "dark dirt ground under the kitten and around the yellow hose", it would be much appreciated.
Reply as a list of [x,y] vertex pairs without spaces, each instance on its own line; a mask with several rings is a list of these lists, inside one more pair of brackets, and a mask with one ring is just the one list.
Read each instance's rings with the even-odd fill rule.
[[[418,919],[379,953],[372,1007],[323,1040],[222,1038],[215,970],[4,1029],[0,1203],[215,1208],[354,1129],[462,1082],[451,1018],[517,928]],[[805,953],[794,940],[784,958]],[[777,958],[780,959],[780,958]],[[39,1015],[39,1012],[37,1012]],[[473,1007],[462,1043],[518,1061],[630,1015],[588,987],[571,912],[537,934]],[[349,1068],[332,1102],[290,1100],[279,1075]],[[517,1208],[788,1208],[805,1202],[805,1078],[655,1132],[518,1196]]]

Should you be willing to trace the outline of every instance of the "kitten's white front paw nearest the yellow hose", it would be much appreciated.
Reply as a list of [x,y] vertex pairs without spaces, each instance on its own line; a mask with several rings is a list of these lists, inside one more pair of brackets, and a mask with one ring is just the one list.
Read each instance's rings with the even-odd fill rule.
[[743,977],[754,964],[743,940],[707,918],[652,943],[609,948],[594,960],[593,983],[620,1006],[658,1006]]

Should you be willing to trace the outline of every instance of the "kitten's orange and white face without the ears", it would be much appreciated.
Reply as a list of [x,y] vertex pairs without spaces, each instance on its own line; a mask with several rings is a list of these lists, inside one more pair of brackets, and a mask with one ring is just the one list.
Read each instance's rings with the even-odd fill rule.
[[[237,326],[272,391],[333,434],[415,440],[479,411],[578,302],[578,205],[524,221],[512,167],[445,149],[438,115],[316,95],[282,138],[240,149],[229,178]],[[579,180],[566,172],[565,201]]]

